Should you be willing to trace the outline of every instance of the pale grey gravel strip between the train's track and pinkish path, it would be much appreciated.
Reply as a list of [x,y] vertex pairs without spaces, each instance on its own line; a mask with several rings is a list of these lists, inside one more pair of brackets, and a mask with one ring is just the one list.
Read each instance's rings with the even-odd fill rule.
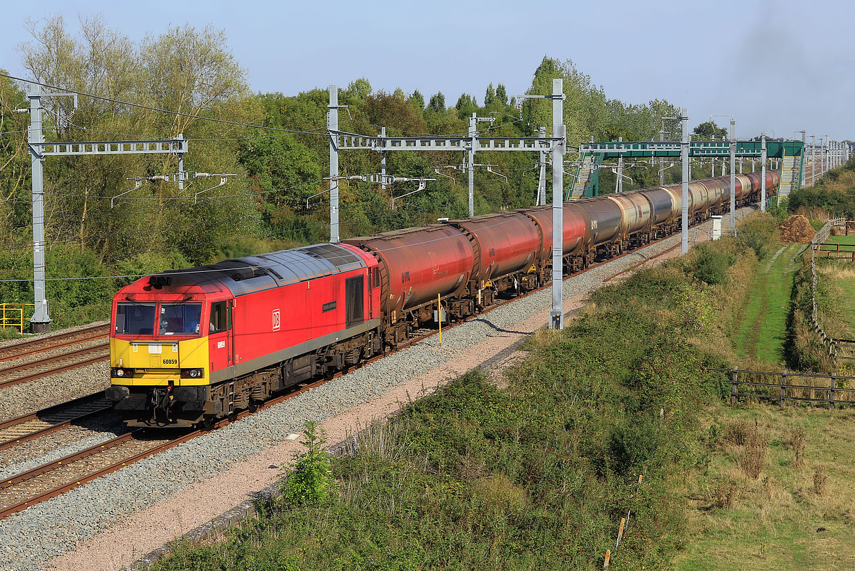
[[[699,232],[706,232],[711,223]],[[679,236],[574,277],[563,285],[565,298],[598,287],[603,280],[679,244]],[[233,425],[168,449],[90,484],[0,520],[0,569],[40,568],[50,558],[170,494],[209,479],[248,455],[299,432],[308,420],[328,419],[398,384],[455,359],[485,337],[513,331],[515,324],[551,305],[547,288],[499,307],[481,318],[391,354]],[[481,359],[483,360],[483,359]],[[472,366],[481,361],[477,355]],[[415,396],[415,395],[414,395]],[[50,524],[48,524],[50,522]]]

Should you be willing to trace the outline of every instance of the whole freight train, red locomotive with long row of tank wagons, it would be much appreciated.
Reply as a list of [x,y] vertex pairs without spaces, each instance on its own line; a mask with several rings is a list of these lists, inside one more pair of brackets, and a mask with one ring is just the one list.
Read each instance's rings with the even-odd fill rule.
[[[736,176],[737,205],[758,201],[760,176]],[[769,196],[778,180],[767,171]],[[691,223],[729,197],[729,177],[689,183]],[[681,185],[564,203],[564,270],[674,234],[681,209]],[[128,425],[207,425],[540,288],[551,244],[547,206],[140,278],[113,301],[106,396]]]

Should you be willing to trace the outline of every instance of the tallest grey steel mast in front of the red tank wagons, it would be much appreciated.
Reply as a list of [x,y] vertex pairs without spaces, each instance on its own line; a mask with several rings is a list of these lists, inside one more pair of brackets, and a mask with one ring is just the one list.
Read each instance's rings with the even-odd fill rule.
[[[564,80],[552,80],[552,136],[564,137]],[[552,146],[552,329],[564,327],[564,140]]]

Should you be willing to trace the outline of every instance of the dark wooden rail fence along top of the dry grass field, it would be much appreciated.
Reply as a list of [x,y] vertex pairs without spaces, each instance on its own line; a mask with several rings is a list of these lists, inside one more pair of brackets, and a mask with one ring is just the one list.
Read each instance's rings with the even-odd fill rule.
[[[707,371],[720,371],[730,373],[730,402],[735,404],[740,397],[753,397],[758,399],[775,399],[784,401],[824,402],[829,407],[837,405],[855,405],[855,400],[841,399],[840,396],[849,396],[855,393],[855,389],[846,387],[847,381],[855,380],[855,377],[842,375],[823,375],[816,372],[774,372],[774,371],[751,371],[748,369],[716,369],[708,367]],[[740,380],[741,375],[757,375],[760,378],[779,377],[777,382],[758,382],[753,380]],[[811,384],[792,384],[792,378],[817,378],[828,379],[823,386]],[[841,384],[842,382],[842,384]],[[760,387],[773,390],[773,392],[740,392],[740,386]],[[796,394],[800,392],[800,394]],[[805,396],[805,394],[810,396]],[[820,395],[820,396],[817,396]]]

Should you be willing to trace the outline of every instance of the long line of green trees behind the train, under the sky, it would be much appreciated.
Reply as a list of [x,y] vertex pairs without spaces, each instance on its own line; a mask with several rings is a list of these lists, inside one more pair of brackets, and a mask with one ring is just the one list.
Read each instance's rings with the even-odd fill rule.
[[[131,276],[328,240],[326,88],[290,95],[252,92],[245,68],[227,47],[226,33],[213,27],[170,27],[139,42],[98,17],[81,17],[78,34],[69,32],[62,16],[31,22],[29,29],[32,41],[21,46],[21,58],[33,80],[98,96],[80,96],[76,109],[72,98],[44,98],[45,140],[161,140],[180,134],[189,140],[185,170],[234,175],[196,201],[194,194],[217,179],[191,179],[181,190],[172,181],[144,181],[111,207],[112,197],[133,188],[128,179],[174,174],[177,157],[47,158],[48,277],[129,276],[49,282],[49,299],[63,300],[62,312],[79,314],[68,320],[92,317],[91,312],[80,314],[80,307],[98,306],[103,312],[103,300]],[[527,93],[551,93],[557,77],[564,80],[570,146],[565,181],[575,174],[573,147],[592,138],[657,139],[663,126],[666,139],[678,136],[676,122],[662,121],[678,114],[674,105],[661,99],[646,104],[610,99],[569,60],[544,57]],[[339,129],[378,135],[385,127],[388,136],[466,134],[469,116],[476,113],[494,118],[479,124],[492,135],[531,136],[541,126],[551,134],[551,101],[526,99],[518,109],[499,81],[486,86],[482,97],[463,93],[453,105],[452,100],[443,92],[375,90],[368,79],[355,78],[339,88],[339,104],[347,105],[339,112]],[[29,117],[13,112],[27,106],[24,86],[0,78],[0,280],[32,278]],[[341,182],[342,236],[466,216],[466,175],[454,169],[440,170],[446,176],[435,172],[463,164],[463,153],[387,154],[390,175],[438,180],[395,210],[391,197],[415,189],[415,183],[381,189]],[[341,175],[380,172],[376,152],[341,152],[339,161]],[[507,180],[476,171],[476,213],[533,205],[537,161],[534,152],[479,152],[476,162],[497,165],[492,170]],[[638,165],[628,173],[634,187],[657,183],[652,167]],[[551,177],[547,182],[551,185]],[[32,283],[0,281],[0,300],[32,300]]]

